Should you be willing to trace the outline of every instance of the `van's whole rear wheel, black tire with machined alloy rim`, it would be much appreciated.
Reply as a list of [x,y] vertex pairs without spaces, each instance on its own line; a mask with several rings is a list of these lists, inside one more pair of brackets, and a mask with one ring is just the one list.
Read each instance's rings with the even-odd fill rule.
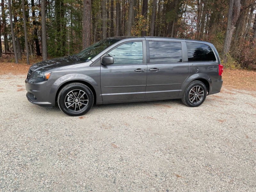
[[[198,92],[196,91],[197,89],[199,90]],[[203,91],[203,95],[202,95],[202,91]],[[204,102],[206,95],[207,95],[207,88],[205,84],[201,81],[192,81],[186,88],[183,98],[181,100],[188,107],[198,107]]]

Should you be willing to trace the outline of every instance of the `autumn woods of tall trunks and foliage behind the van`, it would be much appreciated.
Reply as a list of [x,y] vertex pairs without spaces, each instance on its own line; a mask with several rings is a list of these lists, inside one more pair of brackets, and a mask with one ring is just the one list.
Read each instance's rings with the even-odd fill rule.
[[211,42],[225,67],[256,69],[255,9],[255,0],[1,0],[0,56],[18,63],[26,53],[29,63],[106,37],[164,36]]

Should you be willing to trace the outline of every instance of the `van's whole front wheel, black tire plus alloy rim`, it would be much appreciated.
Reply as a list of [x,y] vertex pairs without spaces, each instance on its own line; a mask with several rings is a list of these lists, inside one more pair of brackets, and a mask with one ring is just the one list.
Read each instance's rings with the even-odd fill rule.
[[[69,116],[81,116],[92,108],[94,97],[92,90],[85,84],[70,83],[60,90],[57,102],[63,113]],[[71,105],[72,103],[74,104]]]

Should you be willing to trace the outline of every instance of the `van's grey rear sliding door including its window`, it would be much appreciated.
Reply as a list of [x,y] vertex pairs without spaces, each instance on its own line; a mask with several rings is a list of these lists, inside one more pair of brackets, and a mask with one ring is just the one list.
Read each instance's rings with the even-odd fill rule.
[[148,78],[145,98],[179,95],[188,77],[188,62],[182,58],[181,42],[147,41]]

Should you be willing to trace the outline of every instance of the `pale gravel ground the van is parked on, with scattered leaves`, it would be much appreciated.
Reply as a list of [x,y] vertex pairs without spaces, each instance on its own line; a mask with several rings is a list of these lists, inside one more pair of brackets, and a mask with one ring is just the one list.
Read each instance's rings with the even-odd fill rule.
[[0,76],[1,191],[256,191],[256,92],[70,117],[28,102],[24,80]]

